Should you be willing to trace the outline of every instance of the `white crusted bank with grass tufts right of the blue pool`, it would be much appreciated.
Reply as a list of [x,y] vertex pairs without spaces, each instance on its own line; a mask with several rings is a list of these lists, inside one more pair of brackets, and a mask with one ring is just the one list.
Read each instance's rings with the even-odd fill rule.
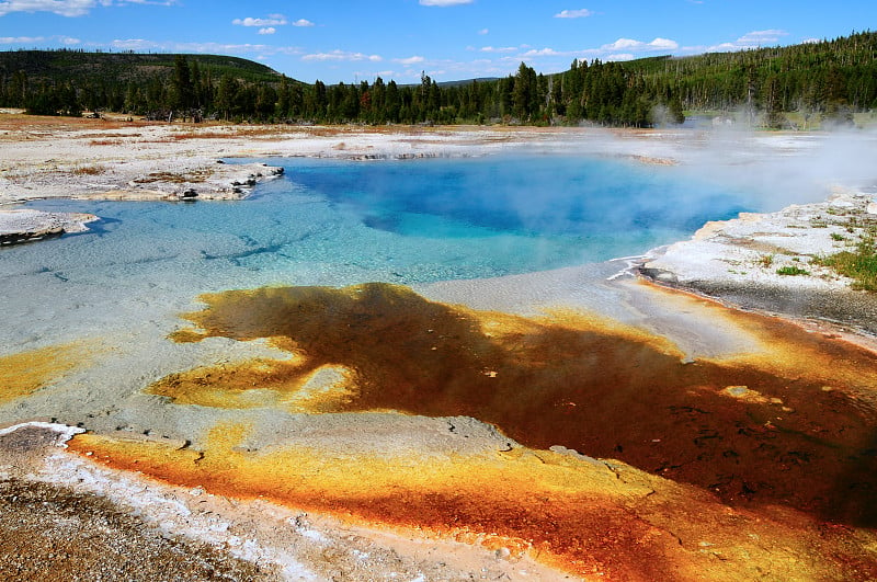
[[[651,251],[637,272],[661,285],[791,319],[877,335],[877,297],[821,260],[855,247],[877,226],[866,192],[840,190],[824,202],[709,222],[691,240]],[[790,273],[790,274],[787,274]]]

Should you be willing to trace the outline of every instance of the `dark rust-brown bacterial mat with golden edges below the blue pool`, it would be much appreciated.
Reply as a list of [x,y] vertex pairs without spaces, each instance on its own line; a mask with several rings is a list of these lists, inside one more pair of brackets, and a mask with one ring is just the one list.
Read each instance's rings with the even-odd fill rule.
[[[204,300],[186,316],[197,336],[273,338],[299,357],[198,368],[153,393],[217,406],[218,389],[235,407],[248,389],[292,396],[315,370],[341,366],[342,388],[317,399],[320,411],[468,415],[533,448],[618,458],[727,501],[877,520],[874,408],[856,396],[877,387],[877,358],[791,324],[741,315],[772,345],[766,356],[684,363],[661,338],[577,313],[478,312],[386,284]],[[205,387],[213,397],[200,401]]]

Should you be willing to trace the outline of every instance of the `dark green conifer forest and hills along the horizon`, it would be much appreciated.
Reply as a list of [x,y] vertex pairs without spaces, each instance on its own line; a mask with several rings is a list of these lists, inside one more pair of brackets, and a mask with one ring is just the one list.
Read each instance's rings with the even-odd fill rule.
[[[0,53],[0,106],[32,113],[110,110],[132,115],[316,123],[513,123],[646,127],[683,111],[743,112],[771,127],[789,118],[850,123],[877,109],[877,33],[789,47],[653,57],[627,62],[574,60],[537,73],[522,62],[502,79],[417,84],[305,84],[234,57]],[[185,113],[183,113],[185,115]]]

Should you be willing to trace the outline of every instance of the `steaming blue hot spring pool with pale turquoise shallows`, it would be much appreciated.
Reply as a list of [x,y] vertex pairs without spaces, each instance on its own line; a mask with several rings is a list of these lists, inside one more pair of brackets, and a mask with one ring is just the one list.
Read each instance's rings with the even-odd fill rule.
[[90,233],[3,250],[0,272],[14,261],[13,271],[126,282],[161,274],[207,288],[487,277],[639,254],[707,220],[762,209],[754,193],[616,159],[264,161],[286,175],[240,202],[33,203],[105,220]]

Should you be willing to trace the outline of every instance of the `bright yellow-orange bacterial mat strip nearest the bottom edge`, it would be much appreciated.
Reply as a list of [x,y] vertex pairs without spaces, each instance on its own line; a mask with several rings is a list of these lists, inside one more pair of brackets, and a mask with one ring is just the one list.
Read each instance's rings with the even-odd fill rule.
[[[415,538],[527,554],[601,580],[847,580],[877,575],[877,537],[791,511],[731,509],[692,486],[617,463],[514,448],[420,458],[307,447],[252,453],[247,427],[217,426],[202,450],[86,434],[70,448],[116,469],[214,494],[265,499]],[[593,578],[592,578],[593,577]]]

